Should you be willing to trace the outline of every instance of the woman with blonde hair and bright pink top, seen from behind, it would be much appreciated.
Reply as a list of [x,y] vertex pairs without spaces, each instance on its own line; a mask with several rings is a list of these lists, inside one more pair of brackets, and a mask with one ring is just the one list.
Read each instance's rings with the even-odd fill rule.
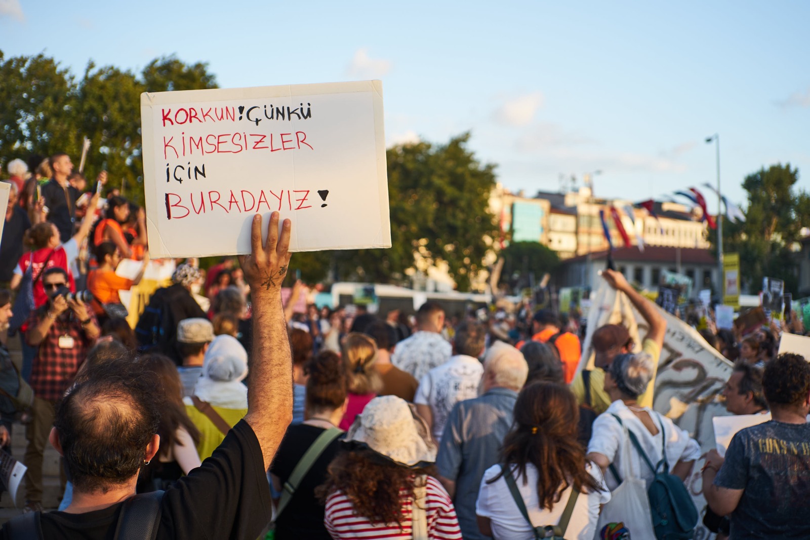
[[382,379],[373,367],[376,360],[377,344],[371,337],[360,332],[346,336],[343,362],[349,378],[349,396],[346,414],[338,426],[340,429],[347,430],[365,405],[382,390]]

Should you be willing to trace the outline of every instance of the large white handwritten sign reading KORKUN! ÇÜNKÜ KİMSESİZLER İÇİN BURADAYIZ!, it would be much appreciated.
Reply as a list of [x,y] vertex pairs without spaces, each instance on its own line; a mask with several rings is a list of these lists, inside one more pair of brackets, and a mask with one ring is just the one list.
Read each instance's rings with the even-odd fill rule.
[[141,125],[154,258],[249,253],[273,211],[291,251],[391,245],[381,81],[145,92]]

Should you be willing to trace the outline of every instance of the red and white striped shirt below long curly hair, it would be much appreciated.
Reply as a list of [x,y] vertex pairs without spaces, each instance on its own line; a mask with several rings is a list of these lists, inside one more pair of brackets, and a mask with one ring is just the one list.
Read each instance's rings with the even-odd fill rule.
[[[447,495],[445,488],[436,478],[428,476],[427,504],[425,514],[428,518],[428,538],[441,540],[461,540],[461,529],[458,528],[458,517],[455,515],[453,501]],[[343,495],[343,491],[336,491],[326,499],[326,513],[323,523],[332,538],[363,538],[374,540],[377,538],[413,538],[411,529],[411,499],[403,493],[403,524],[402,529],[396,523],[371,523],[368,518],[357,516],[352,503]]]

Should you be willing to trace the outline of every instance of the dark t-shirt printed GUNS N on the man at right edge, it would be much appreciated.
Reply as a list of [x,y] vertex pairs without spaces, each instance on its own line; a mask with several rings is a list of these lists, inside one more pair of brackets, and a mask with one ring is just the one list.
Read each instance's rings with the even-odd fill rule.
[[810,538],[810,424],[771,420],[737,432],[714,485],[744,490],[731,538]]

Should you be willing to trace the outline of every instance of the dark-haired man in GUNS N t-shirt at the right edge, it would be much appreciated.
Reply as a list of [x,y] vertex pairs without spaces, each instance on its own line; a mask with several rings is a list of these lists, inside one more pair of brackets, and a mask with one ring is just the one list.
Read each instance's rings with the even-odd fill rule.
[[773,419],[737,432],[725,460],[709,452],[703,493],[731,516],[734,540],[810,538],[810,364],[781,354],[765,366],[762,388]]

